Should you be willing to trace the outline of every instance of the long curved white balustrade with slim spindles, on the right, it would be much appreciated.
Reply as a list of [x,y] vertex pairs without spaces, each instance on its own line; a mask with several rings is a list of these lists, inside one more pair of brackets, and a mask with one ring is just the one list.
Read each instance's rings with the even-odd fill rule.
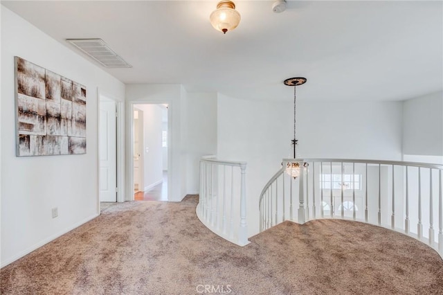
[[284,220],[350,219],[406,233],[443,257],[443,165],[297,159],[301,172],[294,180],[284,172],[293,161],[284,159],[262,190],[260,231]]

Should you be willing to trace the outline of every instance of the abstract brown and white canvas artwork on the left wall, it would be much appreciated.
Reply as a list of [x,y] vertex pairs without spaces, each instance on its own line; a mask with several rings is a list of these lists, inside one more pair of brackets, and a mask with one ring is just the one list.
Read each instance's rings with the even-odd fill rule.
[[86,87],[15,57],[17,157],[86,153]]

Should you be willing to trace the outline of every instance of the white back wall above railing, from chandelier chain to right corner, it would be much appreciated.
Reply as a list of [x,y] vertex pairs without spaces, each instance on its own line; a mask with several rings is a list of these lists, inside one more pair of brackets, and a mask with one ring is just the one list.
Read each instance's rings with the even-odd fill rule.
[[401,102],[298,103],[300,157],[401,160]]

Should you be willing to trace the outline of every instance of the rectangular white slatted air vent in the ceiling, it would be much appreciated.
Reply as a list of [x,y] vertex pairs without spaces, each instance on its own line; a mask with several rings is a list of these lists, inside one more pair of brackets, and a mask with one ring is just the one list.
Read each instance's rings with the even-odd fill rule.
[[102,39],[66,39],[81,51],[107,68],[132,68]]

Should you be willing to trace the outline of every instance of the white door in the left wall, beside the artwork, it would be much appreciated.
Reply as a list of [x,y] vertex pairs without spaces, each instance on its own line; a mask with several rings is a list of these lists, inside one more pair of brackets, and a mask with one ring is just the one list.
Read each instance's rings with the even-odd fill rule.
[[117,202],[116,102],[100,99],[100,202]]

